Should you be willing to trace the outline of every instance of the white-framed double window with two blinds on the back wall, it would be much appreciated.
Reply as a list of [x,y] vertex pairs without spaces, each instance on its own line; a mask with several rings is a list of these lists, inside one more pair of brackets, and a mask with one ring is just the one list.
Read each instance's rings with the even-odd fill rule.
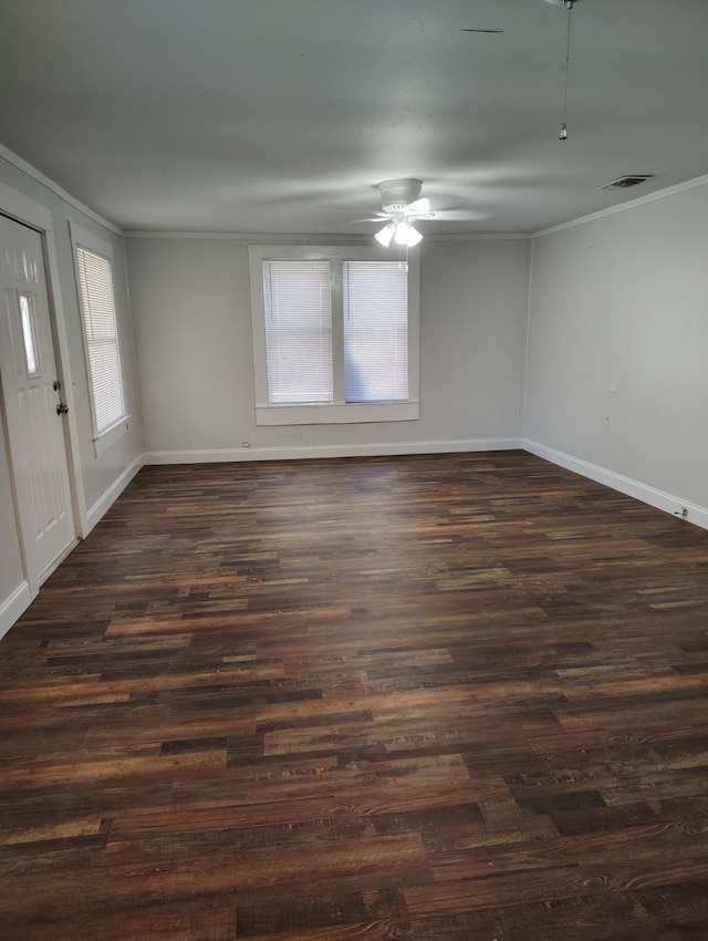
[[258,424],[418,417],[418,266],[364,246],[251,246]]

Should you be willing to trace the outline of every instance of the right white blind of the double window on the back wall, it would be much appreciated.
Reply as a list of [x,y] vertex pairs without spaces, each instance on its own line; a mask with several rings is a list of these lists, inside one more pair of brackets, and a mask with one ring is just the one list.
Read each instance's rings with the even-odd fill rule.
[[398,261],[344,261],[346,402],[408,397],[408,272]]

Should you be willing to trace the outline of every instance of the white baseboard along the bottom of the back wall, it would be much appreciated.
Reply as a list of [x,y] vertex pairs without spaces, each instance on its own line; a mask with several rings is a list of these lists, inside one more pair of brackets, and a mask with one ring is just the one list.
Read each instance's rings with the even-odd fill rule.
[[214,451],[148,451],[145,464],[212,464],[241,461],[298,461],[316,457],[387,457],[397,454],[448,454],[466,451],[523,449],[522,438],[416,441],[397,444],[313,445],[310,447],[235,447]]

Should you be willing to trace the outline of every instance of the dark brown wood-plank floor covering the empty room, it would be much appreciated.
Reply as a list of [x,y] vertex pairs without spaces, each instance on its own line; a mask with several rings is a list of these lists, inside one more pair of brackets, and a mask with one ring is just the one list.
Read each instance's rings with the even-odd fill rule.
[[521,452],[144,468],[0,642],[4,941],[708,939],[708,532]]

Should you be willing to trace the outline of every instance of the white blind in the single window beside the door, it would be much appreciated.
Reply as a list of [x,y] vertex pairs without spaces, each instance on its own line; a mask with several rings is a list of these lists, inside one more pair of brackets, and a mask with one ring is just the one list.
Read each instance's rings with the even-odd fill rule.
[[94,431],[103,434],[125,416],[111,261],[76,246]]

